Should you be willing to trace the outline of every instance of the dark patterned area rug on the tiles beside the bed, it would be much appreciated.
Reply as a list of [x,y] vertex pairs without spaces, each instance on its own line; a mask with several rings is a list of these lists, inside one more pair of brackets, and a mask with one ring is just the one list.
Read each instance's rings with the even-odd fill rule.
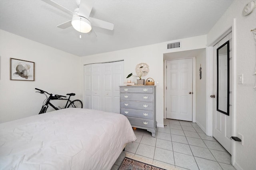
[[139,162],[130,158],[124,158],[119,170],[165,170],[156,166]]

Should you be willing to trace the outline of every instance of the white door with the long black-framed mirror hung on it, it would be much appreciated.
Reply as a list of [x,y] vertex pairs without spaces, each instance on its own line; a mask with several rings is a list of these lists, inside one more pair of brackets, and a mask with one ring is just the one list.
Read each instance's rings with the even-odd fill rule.
[[[225,42],[229,41],[230,45],[229,45],[229,49],[226,51],[222,51],[223,49],[219,50],[219,68],[217,68],[217,49],[218,47],[220,47],[221,45],[223,45]],[[224,37],[222,40],[220,40],[216,45],[214,45],[214,62],[213,62],[213,94],[216,96],[216,98],[213,98],[213,137],[220,143],[220,145],[222,145],[230,154],[231,153],[231,139],[230,137],[232,136],[232,83],[230,83],[229,85],[229,92],[228,92],[228,77],[229,77],[229,82],[232,82],[232,33],[229,33],[226,37]],[[225,47],[225,46],[224,46]],[[227,48],[227,45],[226,45]],[[225,48],[224,48],[225,49]],[[222,57],[226,56],[227,57],[227,53],[229,53],[229,76],[227,75],[227,58],[226,60],[224,60],[224,62],[222,63]],[[222,54],[222,55],[221,55]],[[221,65],[224,65],[221,69]],[[217,69],[218,72],[225,72],[226,74],[219,74],[219,84],[223,83],[223,91],[221,90],[221,85],[219,87],[219,95],[217,96]],[[228,92],[228,94],[227,94]],[[227,98],[227,96],[229,95],[229,100],[221,100],[220,96],[222,96],[224,94],[224,97],[222,98],[222,100],[225,98]],[[217,109],[217,98],[219,98],[219,109]],[[229,102],[229,103],[227,103]],[[227,107],[229,107],[229,115],[226,115],[222,112],[220,112],[220,108],[222,106],[222,104],[225,104],[226,109]],[[224,110],[224,109],[222,109]]]

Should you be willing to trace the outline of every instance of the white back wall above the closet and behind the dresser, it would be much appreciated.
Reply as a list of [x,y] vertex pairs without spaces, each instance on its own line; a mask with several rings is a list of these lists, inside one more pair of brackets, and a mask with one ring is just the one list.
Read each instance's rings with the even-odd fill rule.
[[[144,79],[153,78],[159,82],[156,87],[156,121],[158,127],[164,127],[164,53],[171,53],[177,51],[186,51],[192,49],[202,49],[206,47],[206,35],[190,37],[181,39],[182,46],[180,49],[172,51],[166,49],[166,42],[154,45],[147,45],[136,47],[132,49],[125,49],[120,51],[113,51],[109,53],[101,53],[96,55],[89,55],[81,57],[81,70],[84,64],[101,63],[108,61],[124,60],[124,77],[131,72],[135,73],[135,66],[139,63],[147,63],[150,68],[147,76]],[[195,43],[196,42],[196,43]],[[132,82],[136,81],[136,77],[129,78]],[[124,82],[127,80],[125,79]],[[83,86],[81,82],[81,86]]]

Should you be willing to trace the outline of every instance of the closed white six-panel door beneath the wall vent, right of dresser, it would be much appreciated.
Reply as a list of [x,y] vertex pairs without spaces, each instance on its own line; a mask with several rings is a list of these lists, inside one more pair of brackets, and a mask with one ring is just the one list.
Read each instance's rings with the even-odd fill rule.
[[167,61],[166,118],[192,121],[193,59]]

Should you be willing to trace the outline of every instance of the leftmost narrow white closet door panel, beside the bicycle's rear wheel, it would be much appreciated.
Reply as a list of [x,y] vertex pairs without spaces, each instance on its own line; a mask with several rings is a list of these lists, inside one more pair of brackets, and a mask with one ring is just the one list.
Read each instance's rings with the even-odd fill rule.
[[92,107],[92,65],[84,66],[84,108],[91,109]]

